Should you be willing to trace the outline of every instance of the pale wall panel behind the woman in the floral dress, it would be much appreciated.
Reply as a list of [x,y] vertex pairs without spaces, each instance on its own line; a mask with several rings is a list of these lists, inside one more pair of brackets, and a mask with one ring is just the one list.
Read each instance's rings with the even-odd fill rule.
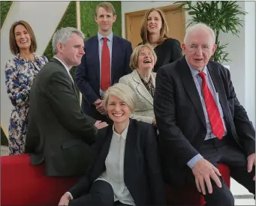
[[5,86],[5,64],[13,58],[9,49],[9,30],[13,22],[23,19],[32,26],[38,43],[37,54],[42,55],[62,19],[69,1],[13,1],[1,29],[1,126],[8,136],[11,101]]

